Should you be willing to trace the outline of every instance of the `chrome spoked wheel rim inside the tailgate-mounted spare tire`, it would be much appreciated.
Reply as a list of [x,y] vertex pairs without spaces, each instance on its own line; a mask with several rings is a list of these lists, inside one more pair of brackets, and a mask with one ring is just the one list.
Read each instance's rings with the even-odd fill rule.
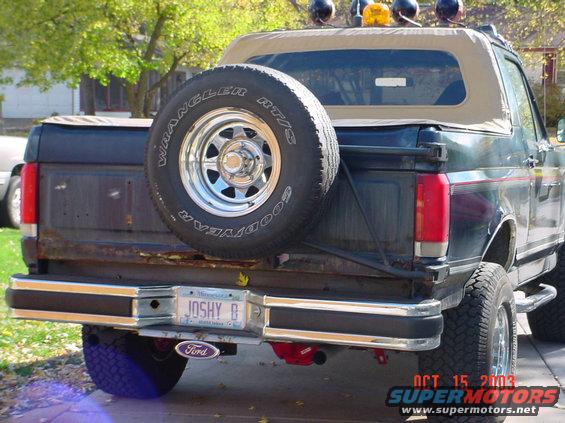
[[275,134],[244,109],[221,108],[202,116],[184,137],[179,155],[190,198],[222,217],[243,216],[264,204],[280,167]]

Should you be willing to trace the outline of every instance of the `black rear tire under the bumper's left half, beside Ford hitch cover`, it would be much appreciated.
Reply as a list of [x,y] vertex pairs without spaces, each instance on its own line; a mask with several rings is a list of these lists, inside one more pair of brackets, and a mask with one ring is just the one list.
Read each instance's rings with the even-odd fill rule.
[[158,351],[153,338],[100,326],[82,328],[88,373],[104,392],[127,398],[156,398],[175,387],[187,359],[174,351]]

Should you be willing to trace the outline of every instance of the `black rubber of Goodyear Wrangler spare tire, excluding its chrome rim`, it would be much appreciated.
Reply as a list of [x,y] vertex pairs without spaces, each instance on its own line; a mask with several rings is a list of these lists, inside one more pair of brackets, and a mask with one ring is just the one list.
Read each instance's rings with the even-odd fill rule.
[[[261,118],[280,148],[274,191],[243,216],[205,210],[193,201],[180,177],[185,135],[199,118],[222,108]],[[302,240],[329,204],[338,167],[335,130],[318,99],[294,78],[257,65],[217,67],[188,80],[159,111],[145,154],[149,192],[163,222],[196,250],[227,259],[273,255]]]

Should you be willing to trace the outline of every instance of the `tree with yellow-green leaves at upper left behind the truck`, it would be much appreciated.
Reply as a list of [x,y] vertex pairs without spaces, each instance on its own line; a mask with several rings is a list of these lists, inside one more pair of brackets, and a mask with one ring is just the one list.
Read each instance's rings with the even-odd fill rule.
[[240,34],[297,26],[302,17],[289,1],[0,0],[0,69],[19,67],[23,84],[42,88],[114,76],[132,117],[148,116],[180,65],[207,68]]

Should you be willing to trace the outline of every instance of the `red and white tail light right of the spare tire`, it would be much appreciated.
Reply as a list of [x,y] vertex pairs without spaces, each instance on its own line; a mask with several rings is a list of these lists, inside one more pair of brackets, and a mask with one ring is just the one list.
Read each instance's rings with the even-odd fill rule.
[[443,257],[449,239],[449,180],[421,174],[416,180],[414,250],[418,257]]

